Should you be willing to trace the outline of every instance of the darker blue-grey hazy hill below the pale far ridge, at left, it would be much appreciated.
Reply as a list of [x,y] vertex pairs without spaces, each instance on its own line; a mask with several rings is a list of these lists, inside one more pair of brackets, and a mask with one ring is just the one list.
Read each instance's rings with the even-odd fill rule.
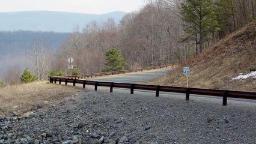
[[46,38],[47,46],[54,52],[69,35],[39,31],[0,31],[0,78],[10,67],[19,67],[21,70],[28,67],[28,56],[35,40]]

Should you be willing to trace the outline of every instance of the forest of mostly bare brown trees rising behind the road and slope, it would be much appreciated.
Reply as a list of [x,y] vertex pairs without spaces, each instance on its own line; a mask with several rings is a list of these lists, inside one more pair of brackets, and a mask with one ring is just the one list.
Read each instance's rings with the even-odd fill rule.
[[126,14],[120,23],[109,19],[77,26],[55,53],[50,53],[47,41],[38,41],[31,69],[40,79],[47,79],[52,70],[69,74],[67,59],[72,57],[79,73],[100,72],[106,68],[105,53],[113,48],[121,51],[126,69],[187,61],[255,20],[255,3],[148,0],[141,10]]

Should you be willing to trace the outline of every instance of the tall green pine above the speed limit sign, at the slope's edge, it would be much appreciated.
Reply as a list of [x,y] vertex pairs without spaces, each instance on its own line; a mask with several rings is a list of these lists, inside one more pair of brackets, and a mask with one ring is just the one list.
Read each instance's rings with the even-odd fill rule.
[[209,36],[219,30],[212,0],[186,0],[181,4],[181,17],[186,32],[182,41],[195,41],[197,54],[201,53],[203,44],[211,38]]

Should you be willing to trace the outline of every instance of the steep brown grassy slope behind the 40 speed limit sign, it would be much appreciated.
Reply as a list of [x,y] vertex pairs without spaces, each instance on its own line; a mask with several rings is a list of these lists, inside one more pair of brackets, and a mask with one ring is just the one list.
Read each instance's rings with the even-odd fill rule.
[[[190,67],[192,88],[230,89],[256,92],[256,21],[207,48],[201,55],[175,68],[154,84],[186,86],[183,67]],[[251,73],[247,79],[232,80]]]

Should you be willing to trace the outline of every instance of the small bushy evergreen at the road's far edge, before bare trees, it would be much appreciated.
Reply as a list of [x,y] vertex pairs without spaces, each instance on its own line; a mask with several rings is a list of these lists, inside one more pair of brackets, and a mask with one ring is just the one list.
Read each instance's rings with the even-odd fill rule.
[[127,62],[124,61],[123,56],[121,56],[121,51],[115,48],[106,51],[106,63],[108,66],[103,71],[117,71],[124,70],[124,67],[127,65]]

